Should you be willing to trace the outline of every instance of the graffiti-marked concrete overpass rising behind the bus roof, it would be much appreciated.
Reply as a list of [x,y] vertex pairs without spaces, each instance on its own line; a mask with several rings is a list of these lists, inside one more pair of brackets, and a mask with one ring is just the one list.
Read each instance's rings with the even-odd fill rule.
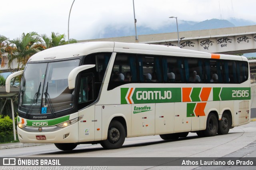
[[[179,32],[184,37],[180,46],[184,49],[204,51],[208,53],[252,53],[256,52],[256,25],[211,30]],[[78,42],[116,41],[136,42],[135,36],[81,40]],[[139,43],[178,46],[177,32],[149,34],[138,36]]]

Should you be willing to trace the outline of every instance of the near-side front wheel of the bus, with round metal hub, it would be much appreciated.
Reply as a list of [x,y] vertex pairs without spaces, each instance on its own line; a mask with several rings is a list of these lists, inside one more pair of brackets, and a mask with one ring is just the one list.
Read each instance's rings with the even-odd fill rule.
[[108,137],[100,142],[104,149],[118,149],[124,144],[126,133],[119,121],[111,121],[108,127]]

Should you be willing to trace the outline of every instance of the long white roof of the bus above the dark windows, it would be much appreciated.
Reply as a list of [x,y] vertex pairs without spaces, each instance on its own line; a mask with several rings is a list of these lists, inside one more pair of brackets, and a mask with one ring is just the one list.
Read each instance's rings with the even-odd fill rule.
[[[138,53],[149,55],[171,55],[202,58],[212,57],[211,53],[182,49],[176,46],[123,42],[84,42],[60,45],[57,47],[46,49],[44,51],[40,51],[34,54],[32,57],[30,57],[29,62],[79,57],[97,52]],[[220,54],[218,58],[247,61],[246,57],[241,57],[238,55]]]

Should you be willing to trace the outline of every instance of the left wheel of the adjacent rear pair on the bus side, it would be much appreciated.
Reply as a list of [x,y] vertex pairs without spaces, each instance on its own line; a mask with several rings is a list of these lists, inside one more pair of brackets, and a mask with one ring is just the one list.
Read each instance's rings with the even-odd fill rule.
[[206,129],[204,130],[204,136],[215,136],[218,132],[218,119],[214,113],[210,113],[206,121]]

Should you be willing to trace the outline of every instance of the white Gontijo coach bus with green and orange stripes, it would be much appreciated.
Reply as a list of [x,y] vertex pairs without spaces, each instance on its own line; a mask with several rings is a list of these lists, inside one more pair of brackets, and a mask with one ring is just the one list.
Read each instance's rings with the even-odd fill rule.
[[34,54],[22,75],[18,138],[120,148],[125,138],[227,134],[250,122],[246,57],[166,45],[86,42]]

